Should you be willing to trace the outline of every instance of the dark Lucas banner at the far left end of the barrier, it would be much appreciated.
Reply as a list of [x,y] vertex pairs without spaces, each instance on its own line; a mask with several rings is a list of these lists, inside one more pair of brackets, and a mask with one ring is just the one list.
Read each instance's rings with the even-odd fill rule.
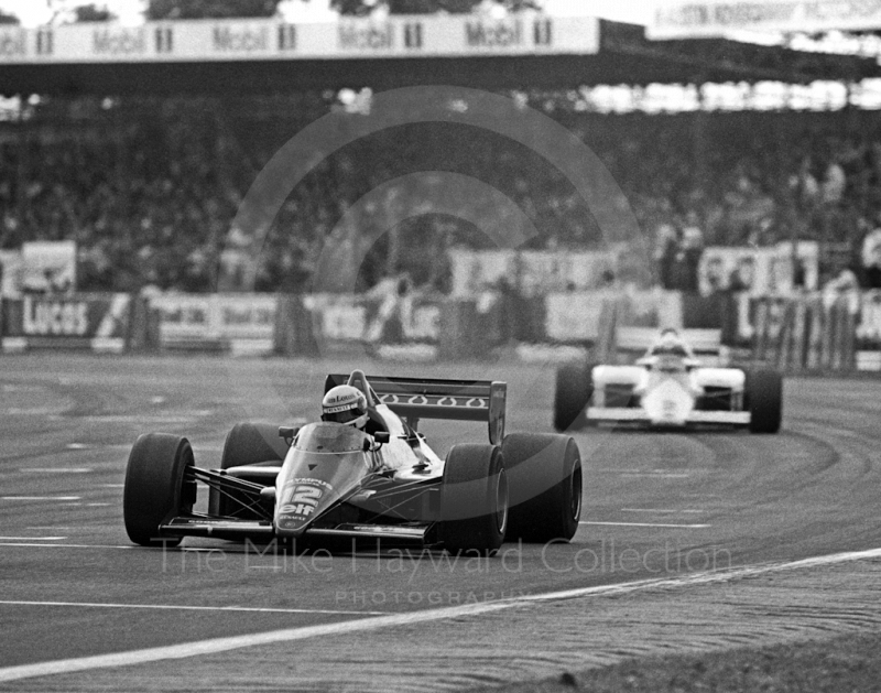
[[130,308],[128,294],[4,299],[3,350],[39,347],[123,351],[129,335]]

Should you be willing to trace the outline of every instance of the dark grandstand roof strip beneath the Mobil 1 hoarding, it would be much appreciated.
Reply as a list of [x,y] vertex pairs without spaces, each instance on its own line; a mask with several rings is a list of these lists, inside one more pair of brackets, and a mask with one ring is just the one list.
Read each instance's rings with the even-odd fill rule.
[[72,96],[273,94],[446,84],[479,88],[881,77],[877,61],[729,40],[653,42],[642,26],[603,21],[596,55],[0,65],[0,89]]

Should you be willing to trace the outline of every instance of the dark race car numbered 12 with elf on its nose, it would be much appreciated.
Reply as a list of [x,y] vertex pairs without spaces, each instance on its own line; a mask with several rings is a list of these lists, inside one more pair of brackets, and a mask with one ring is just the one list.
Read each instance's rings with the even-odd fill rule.
[[[184,437],[141,435],[126,474],[129,538],[144,546],[193,535],[349,551],[369,540],[491,555],[505,538],[575,534],[578,447],[558,434],[504,435],[505,383],[356,370],[328,376],[325,392],[342,383],[365,394],[363,431],[333,421],[240,423],[217,469],[194,466]],[[442,459],[420,419],[487,421],[489,443],[454,445]],[[194,509],[199,485],[209,489],[207,512]]]

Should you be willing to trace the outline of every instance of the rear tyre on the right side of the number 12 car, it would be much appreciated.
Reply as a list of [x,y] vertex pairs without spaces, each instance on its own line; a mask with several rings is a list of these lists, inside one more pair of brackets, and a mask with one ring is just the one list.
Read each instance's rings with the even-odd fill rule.
[[568,541],[581,517],[578,445],[568,435],[512,433],[502,441],[511,489],[508,541]]

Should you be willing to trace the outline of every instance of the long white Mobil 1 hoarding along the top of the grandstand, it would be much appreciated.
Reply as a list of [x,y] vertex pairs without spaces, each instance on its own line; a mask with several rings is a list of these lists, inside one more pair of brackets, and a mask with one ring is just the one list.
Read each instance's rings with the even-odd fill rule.
[[352,57],[586,55],[599,51],[599,20],[521,12],[345,18],[293,24],[278,19],[0,26],[3,63],[148,63]]

